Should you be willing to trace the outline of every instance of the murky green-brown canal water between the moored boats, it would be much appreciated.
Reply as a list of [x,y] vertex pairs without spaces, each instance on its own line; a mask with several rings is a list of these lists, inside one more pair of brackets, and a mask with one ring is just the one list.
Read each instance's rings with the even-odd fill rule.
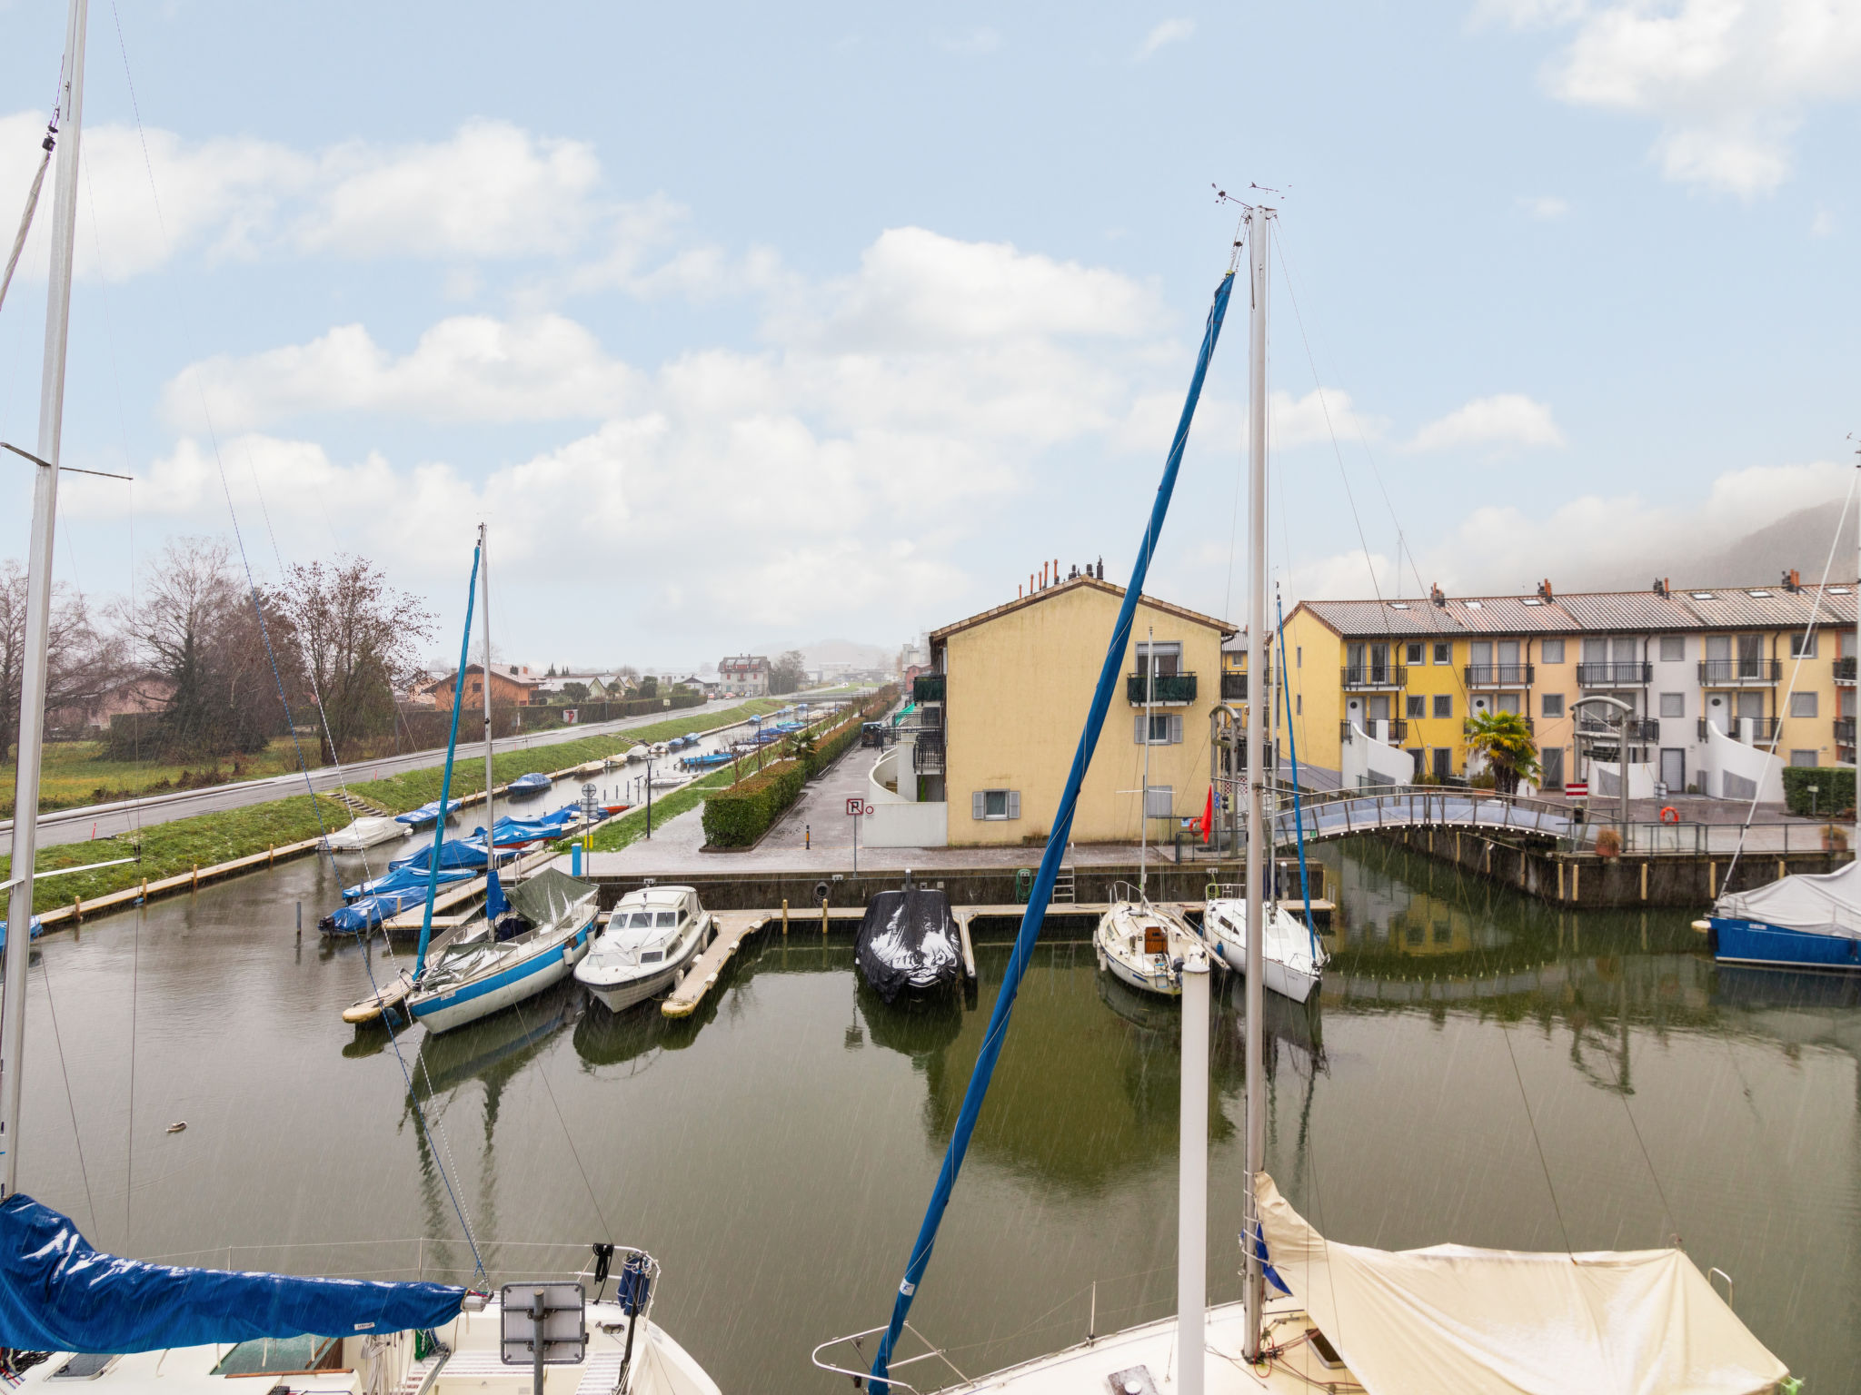
[[[1680,913],[1560,915],[1381,844],[1327,859],[1323,1001],[1267,1016],[1269,1170],[1323,1233],[1679,1235],[1811,1391],[1861,1388],[1852,982],[1714,969]],[[640,1244],[655,1319],[724,1389],[845,1389],[808,1352],[890,1311],[1011,926],[940,1010],[888,1010],[845,939],[797,932],[746,945],[681,1023],[566,986],[396,1053],[339,1021],[391,971],[380,943],[298,941],[294,904],[333,895],[294,863],[43,941],[26,1190],[177,1263],[463,1282],[462,1215],[493,1282]],[[1210,1291],[1230,1300],[1245,1099],[1217,993]],[[1094,1306],[1100,1332],[1171,1311],[1176,1053],[1174,1012],[1087,943],[1037,952],[914,1309],[962,1371],[1074,1343]]]

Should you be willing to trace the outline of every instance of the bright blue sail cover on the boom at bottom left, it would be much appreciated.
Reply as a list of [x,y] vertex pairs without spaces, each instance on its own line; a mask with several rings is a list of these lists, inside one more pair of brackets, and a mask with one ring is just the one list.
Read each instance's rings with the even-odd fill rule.
[[465,1289],[445,1283],[236,1274],[117,1259],[24,1192],[0,1202],[0,1347],[158,1352],[253,1337],[437,1328]]

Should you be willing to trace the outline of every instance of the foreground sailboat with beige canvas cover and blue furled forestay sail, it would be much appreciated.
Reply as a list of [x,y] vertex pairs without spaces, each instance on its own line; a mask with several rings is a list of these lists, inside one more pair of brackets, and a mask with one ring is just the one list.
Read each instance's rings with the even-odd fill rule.
[[[1247,206],[1251,253],[1251,610],[1249,666],[1265,668],[1265,281],[1273,210]],[[1236,244],[1239,249],[1239,244]],[[1236,251],[1236,262],[1239,260]],[[1265,1172],[1265,975],[1262,937],[1247,943],[1247,1176],[1241,1302],[1210,1308],[1208,1293],[1208,1064],[1210,963],[1182,963],[1182,1114],[1176,1231],[1176,1315],[971,1380],[910,1326],[938,1228],[994,1075],[1022,975],[1040,937],[1053,880],[1111,690],[1130,644],[1145,573],[1169,512],[1182,452],[1221,333],[1234,266],[1215,290],[1202,352],[1163,482],[1137,551],[1131,582],[1105,649],[1098,688],[1061,792],[1040,870],[1003,973],[983,1049],[938,1172],[930,1203],[891,1296],[888,1322],[821,1343],[813,1363],[867,1380],[875,1395],[917,1391],[923,1373],[949,1371],[945,1391],[999,1395],[1182,1395],[1219,1391],[1364,1389],[1370,1395],[1511,1391],[1716,1391],[1764,1395],[1788,1380],[1680,1250],[1519,1254],[1433,1246],[1386,1254],[1318,1235]],[[1247,742],[1247,911],[1262,923],[1265,818],[1260,740]],[[1066,1276],[1072,1287],[1078,1280]],[[1269,1285],[1275,1289],[1269,1296]],[[901,1375],[903,1373],[903,1375]]]

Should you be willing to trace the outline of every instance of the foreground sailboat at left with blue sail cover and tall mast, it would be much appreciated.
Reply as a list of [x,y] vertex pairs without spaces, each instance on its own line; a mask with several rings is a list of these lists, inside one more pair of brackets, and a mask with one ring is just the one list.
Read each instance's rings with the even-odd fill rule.
[[[71,0],[54,115],[58,173],[39,450],[32,458],[15,874],[7,887],[15,926],[30,926],[33,919],[87,9],[87,0]],[[52,136],[47,140],[50,156]],[[543,1389],[545,1358],[579,1367],[560,1376],[564,1386],[588,1384],[620,1395],[718,1395],[698,1363],[651,1324],[659,1265],[644,1250],[597,1246],[590,1276],[596,1280],[594,1302],[573,1276],[547,1285],[547,1300],[543,1285],[514,1285],[506,1291],[514,1295],[510,1311],[501,1295],[449,1283],[179,1269],[93,1250],[67,1216],[19,1190],[30,939],[30,934],[7,937],[0,986],[0,1376],[11,1389],[32,1388],[47,1395],[54,1386],[82,1380],[102,1391],[147,1391],[162,1384],[236,1395],[255,1389],[251,1376],[259,1376],[272,1389],[288,1391],[296,1382],[298,1389],[320,1395],[393,1389],[482,1395],[488,1384],[512,1389],[504,1356],[515,1350],[534,1356],[536,1395]],[[616,1261],[616,1293],[603,1302],[603,1283]],[[553,1337],[564,1326],[594,1335],[582,1337],[573,1350],[551,1350],[553,1341],[530,1339],[532,1334]]]

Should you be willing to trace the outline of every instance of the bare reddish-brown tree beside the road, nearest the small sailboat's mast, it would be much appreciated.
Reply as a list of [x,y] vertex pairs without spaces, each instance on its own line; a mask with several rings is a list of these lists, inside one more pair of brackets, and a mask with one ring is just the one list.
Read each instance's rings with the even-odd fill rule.
[[279,601],[322,701],[324,759],[337,761],[337,750],[354,740],[393,733],[395,690],[419,671],[434,614],[359,556],[290,567]]

